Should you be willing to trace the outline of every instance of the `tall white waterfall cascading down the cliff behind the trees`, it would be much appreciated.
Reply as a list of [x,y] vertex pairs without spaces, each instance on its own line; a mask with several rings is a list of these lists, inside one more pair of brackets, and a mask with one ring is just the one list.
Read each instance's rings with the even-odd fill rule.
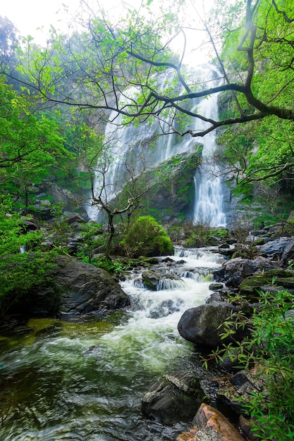
[[[171,73],[165,73],[162,82],[166,82]],[[211,66],[197,68],[197,77],[202,77],[209,82],[216,72]],[[160,77],[161,78],[161,77]],[[217,80],[216,80],[217,81]],[[131,87],[125,94],[130,97],[137,92]],[[204,99],[195,99],[192,102],[192,111],[202,113],[206,118],[217,119],[217,94]],[[169,119],[170,118],[170,119]],[[111,112],[109,123],[106,125],[105,139],[111,147],[111,167],[106,174],[104,187],[104,199],[110,201],[121,190],[123,184],[128,181],[130,175],[128,170],[140,173],[145,168],[156,166],[183,152],[194,151],[195,137],[185,135],[180,137],[176,134],[162,135],[169,132],[171,116],[166,122],[159,124],[154,120],[139,125],[122,125],[121,115],[116,111]],[[203,130],[207,123],[195,118],[193,131]],[[226,226],[226,214],[223,211],[223,194],[221,179],[217,175],[219,168],[216,165],[213,154],[216,149],[215,133],[211,132],[200,139],[203,143],[203,163],[195,173],[195,204],[192,213],[193,223],[208,223],[211,226]],[[110,156],[109,156],[110,157]],[[126,166],[126,164],[128,166]],[[97,174],[94,182],[94,191],[99,191],[102,178]],[[97,207],[90,207],[87,210],[90,218],[97,218]]]

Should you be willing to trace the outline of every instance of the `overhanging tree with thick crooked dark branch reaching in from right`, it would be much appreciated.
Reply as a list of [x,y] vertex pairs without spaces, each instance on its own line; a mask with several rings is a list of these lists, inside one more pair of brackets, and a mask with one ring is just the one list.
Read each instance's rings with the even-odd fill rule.
[[[151,3],[147,1],[147,4]],[[128,17],[121,20],[121,24],[116,27],[106,21],[106,18],[92,18],[87,32],[80,35],[78,52],[74,51],[68,40],[66,59],[61,52],[64,49],[64,36],[56,38],[47,49],[32,55],[30,64],[35,66],[35,71],[30,71],[30,79],[36,92],[39,92],[39,96],[44,100],[63,102],[80,108],[116,110],[128,118],[158,117],[164,114],[168,107],[193,118],[206,120],[186,106],[190,99],[226,90],[237,94],[240,101],[238,116],[219,121],[206,120],[207,129],[200,132],[185,130],[181,135],[190,133],[192,136],[201,137],[223,125],[261,120],[271,115],[281,120],[293,121],[293,108],[287,106],[285,101],[293,82],[292,9],[293,7],[287,2],[281,1],[281,6],[278,6],[275,0],[248,0],[243,16],[243,8],[235,6],[239,27],[236,30],[226,31],[226,46],[235,44],[233,52],[234,49],[238,52],[244,70],[239,78],[235,73],[232,75],[227,71],[226,84],[219,87],[206,88],[204,85],[200,90],[198,84],[195,82],[190,84],[185,72],[182,73],[181,59],[178,62],[170,61],[169,46],[174,35],[169,37],[167,42],[164,42],[164,38],[174,15],[166,13],[164,15],[166,22],[158,24],[158,19],[149,23],[135,11],[130,11]],[[207,30],[208,26],[209,23]],[[59,59],[54,57],[54,65],[51,54],[59,54]],[[221,68],[223,72],[227,70],[228,62],[228,56],[223,54],[223,68]],[[287,73],[290,71],[290,75],[284,75],[282,83],[276,84],[271,92],[267,91],[270,100],[267,99],[268,97],[264,99],[264,95],[259,92],[260,89],[267,87],[268,78],[263,88],[259,87],[257,90],[256,87],[257,82],[260,81],[259,71],[262,62],[267,66],[267,71],[274,67],[277,75],[283,71]],[[49,73],[50,66],[54,66],[54,72]],[[176,86],[166,82],[163,87],[154,77],[167,70],[176,74],[181,86],[179,94],[176,94],[178,92]],[[91,96],[88,94],[82,99],[76,97],[73,92],[64,96],[62,77],[65,74],[66,80],[71,80],[75,88],[86,87],[91,92]],[[137,94],[126,101],[125,89],[130,86],[137,88]],[[59,91],[61,91],[60,97]],[[119,95],[125,99],[118,99]]]

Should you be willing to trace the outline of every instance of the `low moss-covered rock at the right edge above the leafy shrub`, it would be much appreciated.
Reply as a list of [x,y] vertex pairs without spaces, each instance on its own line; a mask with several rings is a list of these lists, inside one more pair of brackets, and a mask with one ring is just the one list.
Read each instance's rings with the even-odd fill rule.
[[240,294],[248,299],[258,299],[261,291],[286,290],[294,292],[294,271],[276,268],[264,273],[251,275],[240,283]]

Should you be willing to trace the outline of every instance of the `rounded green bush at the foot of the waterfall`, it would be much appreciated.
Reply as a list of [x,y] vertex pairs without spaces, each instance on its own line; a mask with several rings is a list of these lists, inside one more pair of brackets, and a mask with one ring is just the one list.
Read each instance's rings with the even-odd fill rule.
[[162,256],[173,252],[167,232],[152,216],[140,216],[123,239],[128,256]]

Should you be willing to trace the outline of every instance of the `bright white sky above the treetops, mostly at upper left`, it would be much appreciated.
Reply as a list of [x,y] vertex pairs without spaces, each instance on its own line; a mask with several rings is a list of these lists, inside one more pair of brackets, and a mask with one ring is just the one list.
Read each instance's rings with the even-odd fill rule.
[[[86,0],[87,3],[92,2],[96,5],[97,0]],[[111,10],[119,15],[121,1],[120,0],[98,0],[99,4],[106,10]],[[156,8],[157,4],[170,0],[153,0],[152,8]],[[67,32],[67,23],[71,16],[77,15],[76,12],[82,10],[80,0],[0,0],[0,15],[7,17],[18,28],[20,34],[24,37],[31,35],[37,44],[45,45],[49,36],[49,27],[54,25],[56,30]],[[199,5],[201,10],[203,3],[205,7],[211,3],[211,0],[190,0],[194,6]],[[141,0],[128,0],[130,6],[138,7]],[[68,15],[65,13],[65,7],[68,8]],[[193,11],[194,13],[194,11]],[[191,13],[190,13],[191,15]],[[189,13],[188,13],[189,16]],[[39,29],[38,28],[42,28]],[[198,36],[191,39],[199,42]],[[183,41],[183,40],[182,40]],[[181,46],[181,41],[178,46]],[[192,43],[193,44],[193,43]],[[195,54],[193,54],[194,56]],[[205,54],[197,52],[197,58],[200,63],[205,60]],[[197,63],[198,64],[198,63]]]

